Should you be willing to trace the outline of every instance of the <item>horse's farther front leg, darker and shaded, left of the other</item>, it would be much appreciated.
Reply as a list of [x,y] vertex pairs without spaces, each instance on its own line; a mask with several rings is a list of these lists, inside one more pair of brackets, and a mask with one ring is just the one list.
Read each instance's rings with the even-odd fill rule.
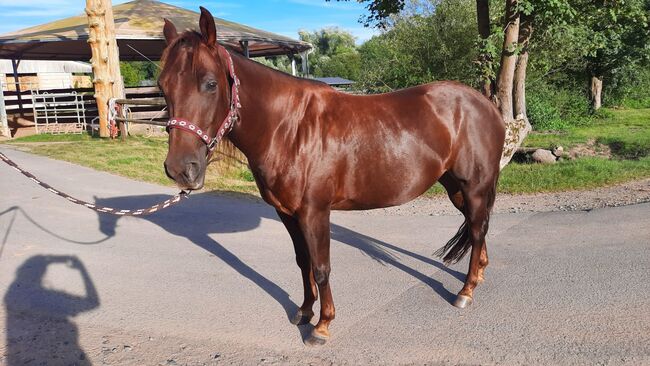
[[318,298],[318,289],[316,288],[316,282],[314,281],[314,275],[311,270],[309,249],[307,248],[307,243],[305,242],[305,237],[302,234],[302,229],[298,221],[293,216],[289,216],[281,211],[277,212],[280,220],[282,220],[282,223],[291,236],[291,241],[293,241],[293,248],[296,252],[296,263],[300,267],[302,285],[305,293],[302,305],[290,321],[295,325],[307,324],[314,317],[312,307]]

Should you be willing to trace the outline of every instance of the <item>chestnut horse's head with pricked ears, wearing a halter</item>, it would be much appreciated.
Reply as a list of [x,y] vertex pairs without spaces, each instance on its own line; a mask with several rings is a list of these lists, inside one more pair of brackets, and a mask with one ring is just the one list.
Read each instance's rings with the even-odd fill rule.
[[[165,95],[170,121],[184,121],[187,128],[169,128],[165,172],[181,189],[200,189],[205,180],[208,145],[217,135],[229,111],[230,82],[227,61],[217,44],[214,18],[201,8],[201,33],[178,34],[165,19],[167,47],[158,84]],[[170,122],[171,123],[171,122]],[[174,126],[175,127],[175,126]],[[187,133],[192,132],[192,133]]]

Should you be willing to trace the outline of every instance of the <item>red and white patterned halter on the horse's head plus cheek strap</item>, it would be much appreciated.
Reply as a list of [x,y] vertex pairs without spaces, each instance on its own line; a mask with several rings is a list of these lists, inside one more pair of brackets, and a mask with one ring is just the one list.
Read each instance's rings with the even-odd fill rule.
[[226,118],[224,118],[223,122],[221,122],[219,130],[217,130],[217,135],[213,138],[210,138],[207,131],[201,130],[201,128],[199,128],[197,125],[182,118],[172,117],[167,122],[167,132],[170,132],[173,128],[177,128],[181,131],[192,133],[194,136],[203,141],[203,143],[205,143],[205,145],[208,147],[208,155],[214,151],[219,141],[221,141],[221,139],[223,139],[223,137],[228,132],[230,132],[230,130],[232,130],[235,122],[237,122],[239,119],[239,109],[241,108],[241,103],[239,102],[239,79],[237,78],[237,75],[235,75],[235,66],[232,62],[232,57],[223,46],[217,45],[217,47],[219,54],[222,56],[222,58],[225,58],[226,62],[228,63],[228,71],[230,73],[230,78],[232,79],[232,87],[230,90],[230,109],[228,110]]

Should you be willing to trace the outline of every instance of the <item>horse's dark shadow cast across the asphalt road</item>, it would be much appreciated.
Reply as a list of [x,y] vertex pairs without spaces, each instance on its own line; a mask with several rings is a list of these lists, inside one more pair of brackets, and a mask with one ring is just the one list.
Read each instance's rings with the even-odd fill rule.
[[[168,198],[163,195],[125,196],[108,199],[96,199],[96,204],[113,208],[142,208]],[[209,234],[237,233],[253,230],[260,224],[262,218],[280,221],[276,212],[268,205],[260,202],[259,198],[243,194],[198,193],[178,204],[172,209],[157,212],[150,216],[142,216],[169,233],[189,239],[192,243],[214,254],[232,267],[240,275],[249,279],[269,296],[277,301],[285,310],[287,317],[292,317],[298,310],[289,294],[263,274],[250,267],[235,254],[226,249],[221,243],[212,239]],[[119,216],[99,214],[100,230],[107,236],[115,235]],[[413,276],[430,286],[444,300],[451,303],[455,295],[449,292],[441,282],[402,263],[395,253],[409,256],[422,261],[452,275],[463,282],[465,275],[433,259],[413,253],[395,245],[363,235],[340,225],[331,225],[332,239],[353,248],[357,248],[374,260],[393,266]],[[263,238],[260,238],[262,240]],[[287,233],[287,245],[290,244]],[[296,278],[300,281],[300,277]],[[305,336],[305,332],[302,332]]]

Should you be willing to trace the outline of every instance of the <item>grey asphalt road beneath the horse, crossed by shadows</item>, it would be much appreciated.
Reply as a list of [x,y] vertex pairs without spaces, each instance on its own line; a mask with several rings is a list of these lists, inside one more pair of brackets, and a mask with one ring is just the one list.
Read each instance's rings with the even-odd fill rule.
[[[0,147],[67,193],[147,206],[173,189]],[[432,257],[459,216],[334,213],[331,341],[289,323],[289,235],[250,197],[147,218],[72,205],[0,164],[0,364],[650,364],[650,204],[494,215],[486,283]],[[497,197],[498,200],[498,197]]]

